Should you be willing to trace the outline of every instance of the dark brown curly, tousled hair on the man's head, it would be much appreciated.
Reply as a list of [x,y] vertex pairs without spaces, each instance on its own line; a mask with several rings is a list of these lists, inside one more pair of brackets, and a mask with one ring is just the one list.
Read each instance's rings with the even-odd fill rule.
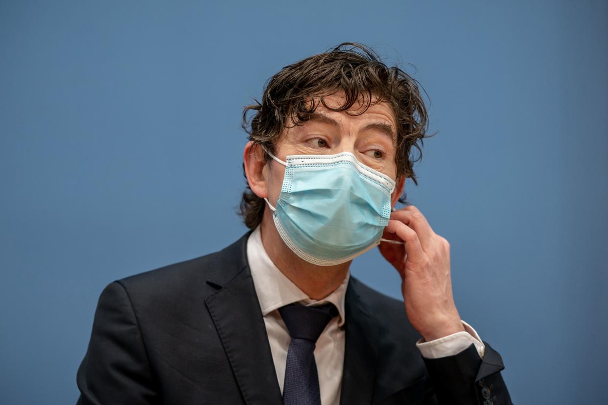
[[[422,87],[399,67],[387,67],[370,47],[342,43],[283,67],[266,84],[261,103],[254,98],[254,104],[244,107],[242,127],[249,134],[250,141],[274,154],[280,135],[286,128],[293,127],[289,123],[303,124],[319,103],[331,111],[360,115],[373,104],[387,102],[395,112],[397,123],[397,175],[412,179],[418,185],[413,163],[422,158],[423,138],[435,135],[426,133],[428,116],[419,86]],[[328,107],[323,97],[340,90],[346,95],[344,104]],[[357,114],[348,112],[361,98],[365,101],[364,108]],[[414,148],[418,151],[416,158],[411,156]],[[399,201],[406,203],[405,192]],[[249,185],[243,192],[240,214],[250,229],[261,223],[264,214],[264,200],[256,196]]]

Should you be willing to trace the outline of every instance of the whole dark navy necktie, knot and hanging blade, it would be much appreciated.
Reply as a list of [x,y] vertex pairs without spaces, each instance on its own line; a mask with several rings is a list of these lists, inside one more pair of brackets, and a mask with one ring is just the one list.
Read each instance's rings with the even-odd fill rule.
[[314,347],[331,318],[338,315],[337,308],[333,304],[305,307],[294,303],[278,308],[278,311],[291,336],[285,366],[283,404],[321,405]]

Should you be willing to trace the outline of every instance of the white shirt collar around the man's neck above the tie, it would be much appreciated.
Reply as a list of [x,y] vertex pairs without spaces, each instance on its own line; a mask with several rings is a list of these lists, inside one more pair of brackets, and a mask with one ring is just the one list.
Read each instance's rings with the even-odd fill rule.
[[338,325],[344,325],[344,298],[350,278],[350,270],[347,271],[342,284],[331,294],[319,300],[312,299],[289,280],[285,274],[281,273],[272,262],[264,249],[260,226],[255,228],[247,239],[247,261],[249,262],[251,276],[254,279],[255,293],[260,302],[262,315],[266,316],[280,307],[292,304],[292,302],[299,302],[306,306],[331,302],[336,306],[339,313]]

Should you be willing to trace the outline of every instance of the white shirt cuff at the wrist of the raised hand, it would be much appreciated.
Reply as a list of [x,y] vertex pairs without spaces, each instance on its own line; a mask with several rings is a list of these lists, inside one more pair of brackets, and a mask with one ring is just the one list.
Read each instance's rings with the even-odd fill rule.
[[471,325],[465,321],[462,321],[462,324],[465,327],[466,332],[452,333],[452,335],[447,335],[430,342],[425,342],[424,338],[420,338],[416,342],[416,347],[420,349],[420,353],[422,353],[423,357],[437,359],[440,357],[457,355],[472,343],[475,345],[475,349],[477,349],[479,356],[483,359],[485,345],[483,344],[482,339],[477,335],[477,332]]

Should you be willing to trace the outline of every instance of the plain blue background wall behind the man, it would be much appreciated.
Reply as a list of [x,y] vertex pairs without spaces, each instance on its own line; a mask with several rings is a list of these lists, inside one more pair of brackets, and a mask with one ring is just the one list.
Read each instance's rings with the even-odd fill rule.
[[1,1],[0,402],[74,403],[103,287],[246,231],[242,107],[359,41],[430,96],[407,192],[514,402],[604,403],[608,3],[421,3]]

